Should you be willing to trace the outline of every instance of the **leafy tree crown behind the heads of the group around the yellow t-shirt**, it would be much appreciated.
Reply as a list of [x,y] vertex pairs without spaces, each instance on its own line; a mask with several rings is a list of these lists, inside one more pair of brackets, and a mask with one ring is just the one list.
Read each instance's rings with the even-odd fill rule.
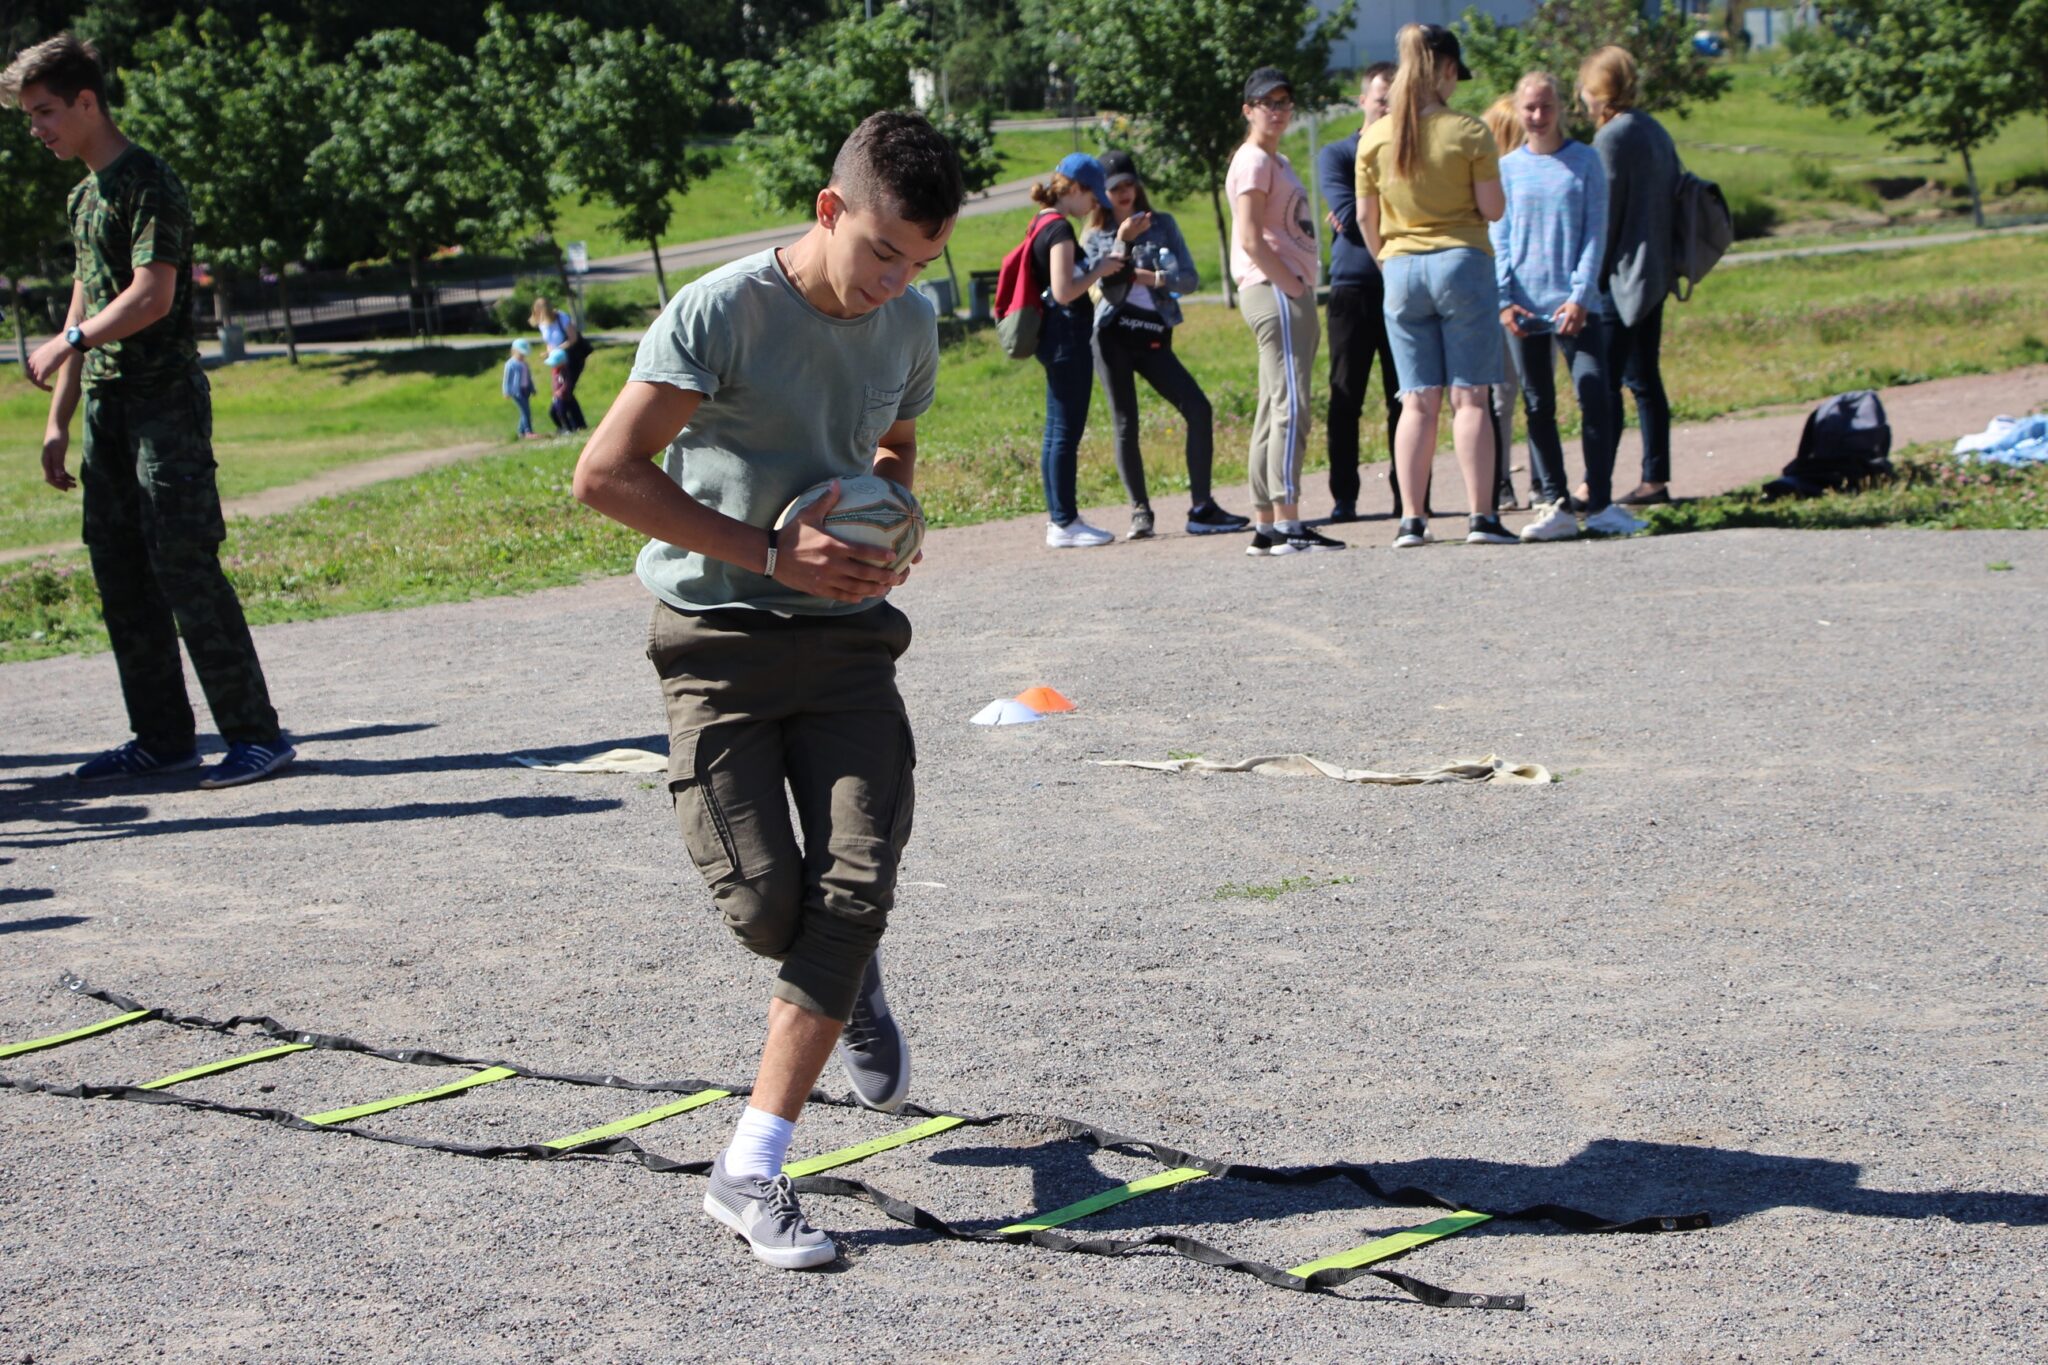
[[1735,80],[1712,57],[1694,51],[1696,25],[1679,4],[1665,4],[1651,18],[1642,0],[1542,0],[1518,29],[1481,10],[1464,10],[1458,23],[1464,61],[1489,96],[1513,90],[1528,72],[1550,72],[1571,90],[1579,63],[1610,43],[1636,59],[1636,108],[1645,113],[1675,115],[1690,104],[1712,104]]

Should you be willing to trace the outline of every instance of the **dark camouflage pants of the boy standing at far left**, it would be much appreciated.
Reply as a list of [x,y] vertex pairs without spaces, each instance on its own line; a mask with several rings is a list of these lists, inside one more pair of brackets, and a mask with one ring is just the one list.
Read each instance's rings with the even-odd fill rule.
[[86,391],[86,548],[135,739],[193,747],[178,636],[221,739],[279,737],[242,600],[221,573],[213,397],[205,375],[147,395]]

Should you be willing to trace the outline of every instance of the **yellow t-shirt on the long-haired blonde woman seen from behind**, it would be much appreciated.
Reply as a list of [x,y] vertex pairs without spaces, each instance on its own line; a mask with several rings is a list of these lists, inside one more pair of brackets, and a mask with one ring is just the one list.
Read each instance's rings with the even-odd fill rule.
[[1358,199],[1378,196],[1380,258],[1468,246],[1493,254],[1473,186],[1501,178],[1493,133],[1473,115],[1440,108],[1421,121],[1415,174],[1395,176],[1395,121],[1380,119],[1358,139]]

